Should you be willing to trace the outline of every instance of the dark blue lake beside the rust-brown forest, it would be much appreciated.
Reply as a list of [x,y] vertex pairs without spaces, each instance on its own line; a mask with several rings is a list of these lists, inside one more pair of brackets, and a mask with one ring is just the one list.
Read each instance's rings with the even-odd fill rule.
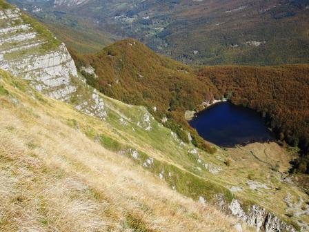
[[261,115],[229,102],[210,106],[189,123],[201,137],[223,147],[275,140]]

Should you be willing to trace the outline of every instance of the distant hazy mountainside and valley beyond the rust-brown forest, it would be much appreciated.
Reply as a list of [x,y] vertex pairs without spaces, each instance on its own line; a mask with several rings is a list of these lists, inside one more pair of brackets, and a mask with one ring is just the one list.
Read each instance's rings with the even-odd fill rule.
[[[308,1],[11,2],[47,24],[58,21],[68,28],[87,28],[90,34],[101,30],[133,37],[156,52],[189,64],[309,62]],[[80,43],[70,30],[67,35],[70,39],[66,42]]]

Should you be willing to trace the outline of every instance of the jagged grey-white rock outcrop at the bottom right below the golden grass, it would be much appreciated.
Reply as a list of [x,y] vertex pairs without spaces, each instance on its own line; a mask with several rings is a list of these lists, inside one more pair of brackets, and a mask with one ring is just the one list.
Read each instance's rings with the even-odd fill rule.
[[245,212],[238,200],[234,199],[228,206],[232,215],[235,215],[239,220],[246,222],[249,226],[255,226],[257,232],[296,232],[296,230],[280,220],[277,216],[266,211],[257,205],[252,205]]

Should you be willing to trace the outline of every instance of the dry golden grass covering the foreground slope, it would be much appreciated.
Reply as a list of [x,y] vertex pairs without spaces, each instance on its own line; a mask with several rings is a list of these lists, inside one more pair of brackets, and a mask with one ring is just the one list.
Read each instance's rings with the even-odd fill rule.
[[52,106],[12,92],[17,106],[0,96],[0,231],[235,231],[234,218],[92,142]]

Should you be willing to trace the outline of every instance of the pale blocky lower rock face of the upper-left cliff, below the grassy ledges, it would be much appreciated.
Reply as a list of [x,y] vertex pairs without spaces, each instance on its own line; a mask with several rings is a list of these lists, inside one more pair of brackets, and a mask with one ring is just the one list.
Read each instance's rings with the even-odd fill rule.
[[70,77],[76,77],[77,70],[64,44],[45,55],[4,61],[0,68],[30,80],[34,88],[45,90],[45,93],[55,99],[67,99],[76,90],[70,85]]

